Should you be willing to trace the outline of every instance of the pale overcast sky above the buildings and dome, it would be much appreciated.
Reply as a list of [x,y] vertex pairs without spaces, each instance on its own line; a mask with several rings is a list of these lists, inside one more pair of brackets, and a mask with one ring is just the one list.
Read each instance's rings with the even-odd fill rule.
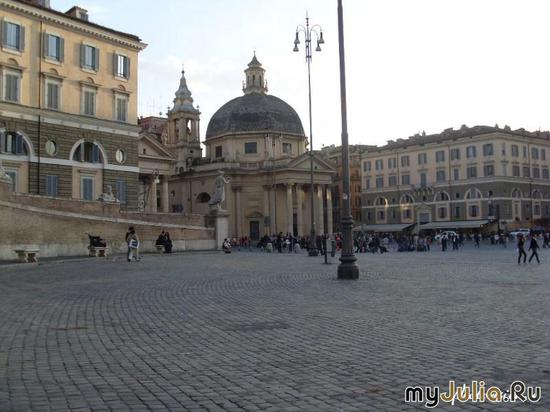
[[[296,26],[324,30],[312,62],[314,147],[339,144],[336,0],[82,0],[90,20],[140,36],[139,114],[172,104],[180,70],[202,112],[242,94],[256,54],[269,92],[308,133],[303,49]],[[51,0],[65,11],[74,1]],[[351,143],[383,144],[462,124],[550,129],[547,0],[344,0]],[[303,42],[302,42],[303,46]]]

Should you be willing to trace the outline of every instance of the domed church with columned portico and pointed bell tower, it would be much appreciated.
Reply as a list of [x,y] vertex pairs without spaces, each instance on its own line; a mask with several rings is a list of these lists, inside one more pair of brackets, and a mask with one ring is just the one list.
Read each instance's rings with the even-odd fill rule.
[[223,171],[229,183],[221,207],[229,212],[231,237],[256,240],[279,232],[307,236],[313,158],[316,233],[332,233],[335,166],[320,153],[311,156],[298,114],[267,93],[265,69],[255,55],[245,76],[243,95],[224,104],[210,119],[203,156],[200,113],[182,73],[159,137],[173,160],[166,188],[153,189],[158,204],[167,204],[172,212],[207,214],[214,181]]

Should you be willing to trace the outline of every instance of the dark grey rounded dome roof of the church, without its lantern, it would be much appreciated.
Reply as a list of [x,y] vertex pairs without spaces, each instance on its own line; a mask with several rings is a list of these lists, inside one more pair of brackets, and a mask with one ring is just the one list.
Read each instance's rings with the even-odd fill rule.
[[304,135],[302,121],[292,106],[275,96],[250,93],[230,100],[214,113],[206,138],[264,130]]

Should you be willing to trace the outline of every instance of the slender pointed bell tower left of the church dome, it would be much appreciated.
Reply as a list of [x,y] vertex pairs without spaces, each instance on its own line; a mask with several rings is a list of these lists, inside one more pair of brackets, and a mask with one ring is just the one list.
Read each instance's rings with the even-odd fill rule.
[[187,87],[184,70],[181,71],[180,86],[176,91],[174,106],[168,110],[166,145],[177,158],[176,174],[189,170],[193,161],[202,157],[200,111],[193,106],[193,98]]

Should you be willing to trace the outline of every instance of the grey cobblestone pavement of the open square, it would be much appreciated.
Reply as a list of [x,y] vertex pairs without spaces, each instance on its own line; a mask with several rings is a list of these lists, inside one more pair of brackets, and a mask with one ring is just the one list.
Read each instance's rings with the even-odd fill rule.
[[[295,254],[0,267],[0,411],[423,410],[407,385],[542,387],[550,252],[361,255],[357,282]],[[336,263],[336,262],[335,262]]]

